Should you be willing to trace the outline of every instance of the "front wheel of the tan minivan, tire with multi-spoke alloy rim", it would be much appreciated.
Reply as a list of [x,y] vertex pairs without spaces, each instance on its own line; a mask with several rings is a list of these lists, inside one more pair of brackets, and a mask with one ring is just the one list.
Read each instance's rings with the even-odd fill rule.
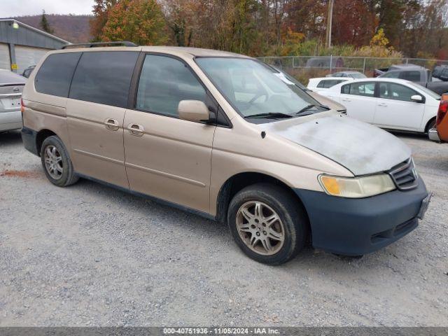
[[233,197],[228,225],[239,248],[268,265],[294,258],[309,234],[307,215],[297,200],[288,190],[268,183],[248,186]]

